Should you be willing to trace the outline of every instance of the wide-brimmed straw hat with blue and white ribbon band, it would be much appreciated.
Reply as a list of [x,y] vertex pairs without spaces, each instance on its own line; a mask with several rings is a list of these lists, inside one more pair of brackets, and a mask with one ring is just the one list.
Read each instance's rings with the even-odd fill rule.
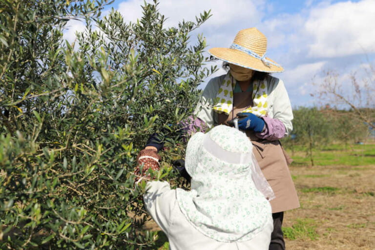
[[240,30],[229,48],[211,48],[212,56],[244,68],[262,72],[283,72],[280,64],[266,57],[267,38],[257,28]]

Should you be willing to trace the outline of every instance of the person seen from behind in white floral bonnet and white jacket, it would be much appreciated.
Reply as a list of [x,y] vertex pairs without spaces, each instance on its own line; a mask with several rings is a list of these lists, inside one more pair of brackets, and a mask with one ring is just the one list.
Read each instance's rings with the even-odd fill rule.
[[[171,189],[167,182],[147,183],[145,207],[167,234],[169,249],[268,250],[273,226],[265,196],[273,192],[256,170],[252,147],[243,132],[215,126],[188,141],[185,166],[190,191]],[[160,159],[147,150],[138,158],[144,174],[148,167],[157,170]]]

